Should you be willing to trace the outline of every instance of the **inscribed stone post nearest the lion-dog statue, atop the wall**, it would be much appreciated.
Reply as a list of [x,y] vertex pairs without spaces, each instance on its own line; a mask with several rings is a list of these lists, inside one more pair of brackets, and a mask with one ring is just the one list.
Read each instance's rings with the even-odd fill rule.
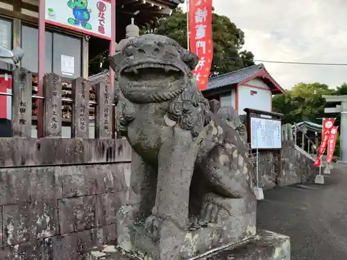
[[95,85],[95,92],[97,103],[95,114],[95,138],[112,138],[112,87],[105,82],[100,82]]

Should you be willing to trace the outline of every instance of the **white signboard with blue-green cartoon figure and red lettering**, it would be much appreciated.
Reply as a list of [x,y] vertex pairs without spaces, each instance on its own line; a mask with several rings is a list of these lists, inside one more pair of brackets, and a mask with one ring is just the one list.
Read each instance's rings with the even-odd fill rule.
[[110,0],[45,0],[46,23],[111,39]]

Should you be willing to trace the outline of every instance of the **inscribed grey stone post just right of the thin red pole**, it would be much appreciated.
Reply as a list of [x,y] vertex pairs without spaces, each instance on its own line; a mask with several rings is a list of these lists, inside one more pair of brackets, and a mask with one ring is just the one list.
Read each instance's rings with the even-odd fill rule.
[[62,79],[56,73],[44,76],[44,137],[62,135]]

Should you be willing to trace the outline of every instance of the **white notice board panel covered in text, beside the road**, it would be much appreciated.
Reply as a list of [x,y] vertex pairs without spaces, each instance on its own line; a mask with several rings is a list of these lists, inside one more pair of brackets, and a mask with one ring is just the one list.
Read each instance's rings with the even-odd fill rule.
[[251,117],[251,148],[282,148],[281,121],[278,119]]

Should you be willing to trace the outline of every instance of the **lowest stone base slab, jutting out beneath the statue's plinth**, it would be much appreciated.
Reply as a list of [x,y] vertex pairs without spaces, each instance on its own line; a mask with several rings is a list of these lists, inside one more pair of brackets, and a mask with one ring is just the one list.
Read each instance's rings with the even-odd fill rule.
[[[194,259],[201,260],[290,260],[290,239],[269,231],[260,231],[254,239],[228,248],[216,249]],[[126,254],[117,252],[115,246],[94,248],[85,260],[138,260]],[[139,259],[142,260],[142,259]],[[153,259],[159,260],[159,259]],[[183,260],[183,259],[182,259]]]

